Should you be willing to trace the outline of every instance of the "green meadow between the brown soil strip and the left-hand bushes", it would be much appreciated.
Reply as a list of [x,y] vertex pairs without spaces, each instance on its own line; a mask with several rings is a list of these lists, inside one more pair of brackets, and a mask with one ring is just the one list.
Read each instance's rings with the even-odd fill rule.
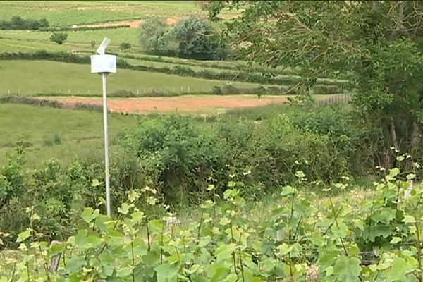
[[[135,123],[133,116],[110,114],[111,142]],[[102,154],[103,117],[98,112],[0,104],[0,124],[0,160],[3,161],[19,140],[32,144],[27,152],[28,165],[52,157],[71,161]]]

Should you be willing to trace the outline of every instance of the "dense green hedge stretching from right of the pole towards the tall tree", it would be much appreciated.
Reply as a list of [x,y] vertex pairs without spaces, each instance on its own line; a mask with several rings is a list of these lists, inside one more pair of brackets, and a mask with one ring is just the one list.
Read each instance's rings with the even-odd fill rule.
[[314,118],[314,129],[295,122],[298,115],[279,114],[261,124],[225,121],[212,129],[176,115],[142,118],[122,142],[138,158],[140,182],[160,188],[172,203],[200,200],[210,176],[219,180],[218,192],[226,190],[228,171],[245,173],[242,192],[254,197],[294,183],[299,170],[309,180],[328,183],[365,170],[350,119],[340,123],[335,120],[340,114],[331,118],[328,110]]

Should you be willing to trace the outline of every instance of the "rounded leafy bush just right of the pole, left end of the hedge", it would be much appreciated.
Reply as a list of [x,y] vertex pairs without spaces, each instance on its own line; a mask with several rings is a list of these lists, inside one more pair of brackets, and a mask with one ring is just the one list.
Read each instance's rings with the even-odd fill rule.
[[221,178],[226,164],[218,137],[176,115],[142,118],[125,137],[125,147],[137,154],[144,186],[163,192],[173,204],[199,200],[209,176]]

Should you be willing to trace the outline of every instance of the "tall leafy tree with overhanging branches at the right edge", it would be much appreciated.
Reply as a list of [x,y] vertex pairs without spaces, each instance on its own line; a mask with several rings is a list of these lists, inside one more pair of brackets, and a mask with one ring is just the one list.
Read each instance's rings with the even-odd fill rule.
[[301,89],[316,78],[349,75],[353,104],[390,147],[415,152],[423,124],[421,1],[213,1],[240,17],[227,34],[243,55],[268,66],[299,67]]

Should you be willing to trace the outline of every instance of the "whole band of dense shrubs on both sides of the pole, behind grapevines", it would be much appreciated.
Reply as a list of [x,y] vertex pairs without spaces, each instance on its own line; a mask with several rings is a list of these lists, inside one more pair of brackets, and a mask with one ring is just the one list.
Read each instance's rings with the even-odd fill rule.
[[[362,176],[372,169],[369,147],[357,146],[367,133],[350,119],[342,121],[345,113],[322,108],[314,111],[313,118],[303,111],[294,107],[262,123],[228,121],[228,116],[223,117],[225,123],[210,125],[177,115],[141,118],[111,152],[114,206],[126,191],[145,186],[159,191],[173,207],[200,204],[210,184],[218,193],[228,188],[228,171],[245,173],[240,192],[251,200],[293,183],[298,169],[321,183]],[[44,142],[54,145],[61,140],[53,136]],[[0,168],[4,210],[0,230],[7,230],[11,238],[29,224],[25,207],[33,206],[42,220],[49,221],[39,227],[56,239],[78,226],[78,207],[102,202],[101,156],[66,166],[50,160],[29,173],[25,173],[24,156],[19,149]],[[92,186],[94,179],[98,182]]]

